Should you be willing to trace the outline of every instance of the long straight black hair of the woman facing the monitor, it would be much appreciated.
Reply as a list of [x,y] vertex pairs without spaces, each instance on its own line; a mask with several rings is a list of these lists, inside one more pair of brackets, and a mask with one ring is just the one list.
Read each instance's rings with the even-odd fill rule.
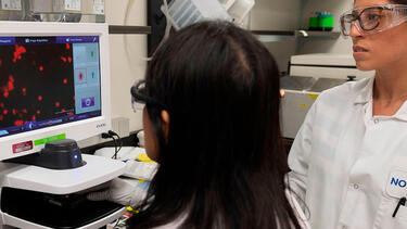
[[169,37],[149,63],[147,104],[160,168],[128,226],[300,228],[284,195],[279,71],[268,50],[231,23],[204,22]]

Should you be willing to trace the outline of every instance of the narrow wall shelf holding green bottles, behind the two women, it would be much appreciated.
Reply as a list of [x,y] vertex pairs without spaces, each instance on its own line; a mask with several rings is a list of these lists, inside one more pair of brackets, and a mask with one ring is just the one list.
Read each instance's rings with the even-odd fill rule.
[[339,31],[309,31],[309,30],[252,30],[262,42],[301,39],[336,39]]

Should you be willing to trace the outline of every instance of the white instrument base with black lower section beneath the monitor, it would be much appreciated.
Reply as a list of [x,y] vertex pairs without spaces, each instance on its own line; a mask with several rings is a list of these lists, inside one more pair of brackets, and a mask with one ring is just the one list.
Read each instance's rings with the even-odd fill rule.
[[124,206],[90,202],[78,192],[120,176],[125,163],[81,156],[86,164],[71,169],[0,162],[0,229],[99,228],[120,217]]

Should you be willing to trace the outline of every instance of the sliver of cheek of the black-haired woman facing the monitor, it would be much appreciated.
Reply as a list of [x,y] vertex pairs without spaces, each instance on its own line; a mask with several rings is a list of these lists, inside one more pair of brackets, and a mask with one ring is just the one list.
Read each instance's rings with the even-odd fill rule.
[[154,135],[154,130],[151,124],[151,119],[149,117],[149,113],[147,112],[147,107],[143,109],[143,129],[144,129],[144,147],[147,155],[156,161],[158,158],[158,140]]

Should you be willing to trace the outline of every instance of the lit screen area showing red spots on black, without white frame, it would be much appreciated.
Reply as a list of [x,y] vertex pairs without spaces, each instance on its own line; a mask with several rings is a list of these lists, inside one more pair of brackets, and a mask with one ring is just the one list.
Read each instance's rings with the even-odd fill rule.
[[97,116],[98,36],[0,37],[0,138]]

